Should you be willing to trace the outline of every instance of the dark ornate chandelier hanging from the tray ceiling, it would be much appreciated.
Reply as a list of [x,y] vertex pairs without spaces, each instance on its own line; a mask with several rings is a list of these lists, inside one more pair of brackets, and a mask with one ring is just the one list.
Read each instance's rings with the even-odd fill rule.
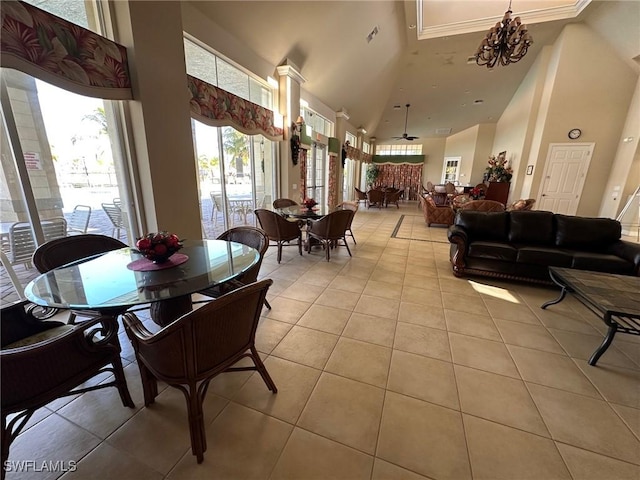
[[481,67],[493,68],[496,64],[509,65],[519,62],[527,54],[533,38],[520,17],[511,18],[511,0],[509,9],[504,12],[502,22],[496,23],[487,33],[486,38],[476,52],[476,63]]

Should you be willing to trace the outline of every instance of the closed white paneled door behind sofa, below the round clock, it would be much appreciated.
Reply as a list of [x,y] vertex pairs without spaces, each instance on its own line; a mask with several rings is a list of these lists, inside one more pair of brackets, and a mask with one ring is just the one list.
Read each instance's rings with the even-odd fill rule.
[[538,210],[575,215],[594,143],[549,145]]

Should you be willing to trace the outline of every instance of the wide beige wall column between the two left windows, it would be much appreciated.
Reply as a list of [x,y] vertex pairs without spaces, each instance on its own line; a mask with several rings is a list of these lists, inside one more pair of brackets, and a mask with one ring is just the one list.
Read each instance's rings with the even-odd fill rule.
[[131,52],[134,128],[144,232],[202,237],[180,3],[115,2],[119,41]]

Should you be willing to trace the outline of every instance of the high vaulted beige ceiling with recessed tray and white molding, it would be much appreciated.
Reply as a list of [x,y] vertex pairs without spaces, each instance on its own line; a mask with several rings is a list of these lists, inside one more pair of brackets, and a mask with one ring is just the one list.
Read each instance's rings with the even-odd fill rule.
[[[589,22],[614,3],[622,7],[609,20],[613,25],[593,24],[621,31],[617,36],[612,32],[608,41],[633,63],[631,58],[640,54],[639,2],[514,0],[514,16],[522,17],[534,44],[517,64],[493,70],[469,62],[469,57],[502,18],[507,1],[194,1],[193,5],[267,62],[293,61],[307,79],[304,90],[335,111],[346,110],[349,123],[385,143],[404,132],[407,103],[411,104],[408,133],[422,139],[495,122],[542,47],[552,44],[568,22]],[[367,42],[376,27],[377,35]]]

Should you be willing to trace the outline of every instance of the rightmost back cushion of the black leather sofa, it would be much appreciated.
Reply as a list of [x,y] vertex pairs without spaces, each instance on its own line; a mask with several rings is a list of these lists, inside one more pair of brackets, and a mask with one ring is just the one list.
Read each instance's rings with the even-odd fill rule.
[[610,218],[555,215],[556,246],[598,250],[620,239],[622,226]]

